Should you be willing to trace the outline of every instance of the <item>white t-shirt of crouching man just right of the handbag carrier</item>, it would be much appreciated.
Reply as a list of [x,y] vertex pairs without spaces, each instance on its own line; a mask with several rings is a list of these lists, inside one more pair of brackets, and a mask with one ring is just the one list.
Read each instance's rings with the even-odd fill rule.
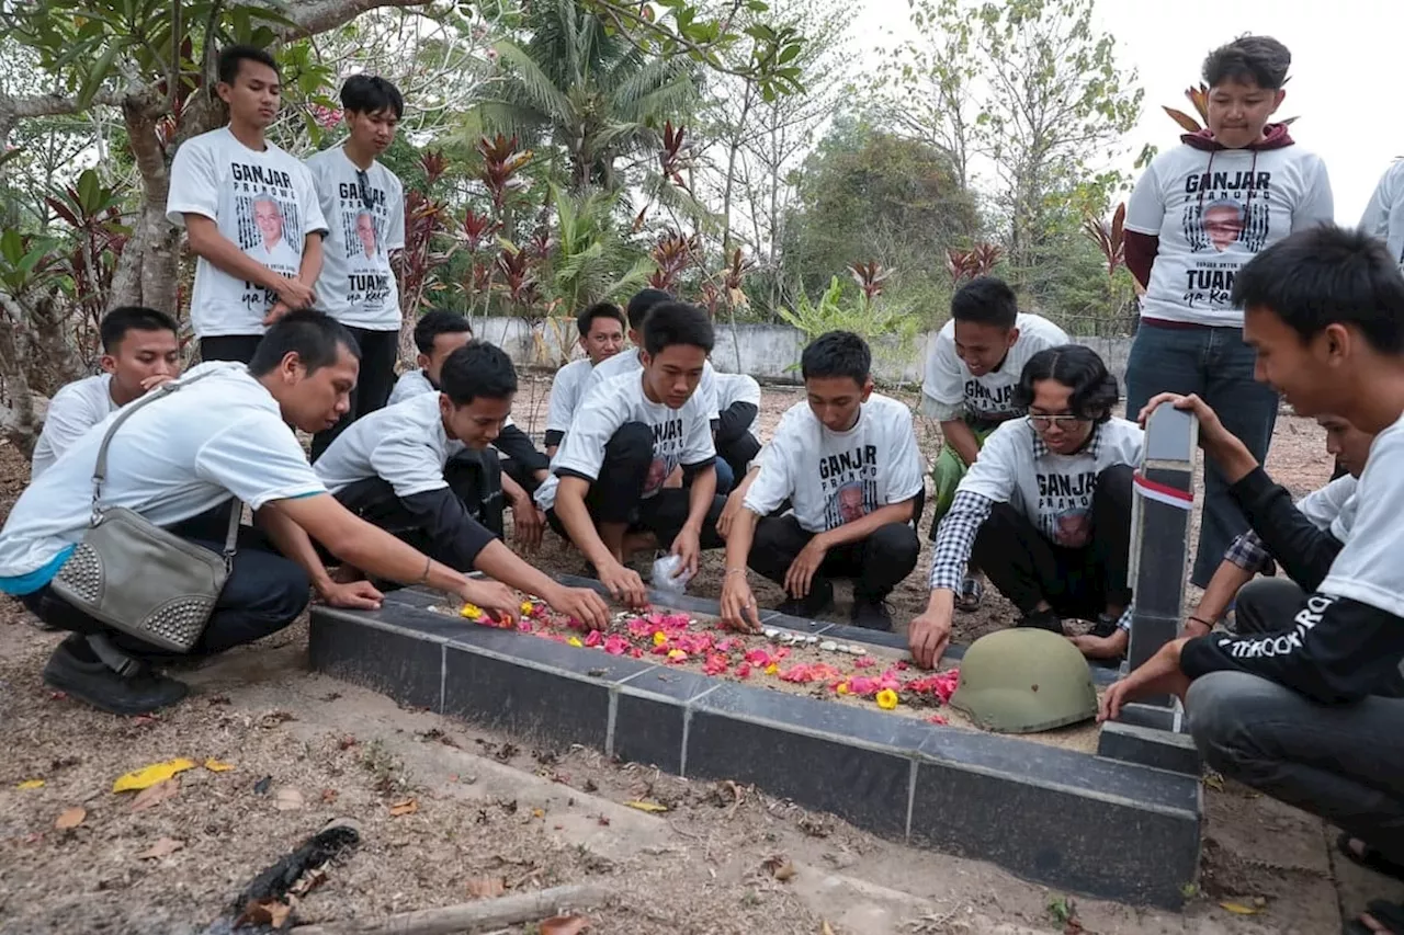
[[446,487],[444,465],[463,448],[444,431],[439,394],[421,393],[354,421],[313,468],[331,493],[380,477],[404,498]]

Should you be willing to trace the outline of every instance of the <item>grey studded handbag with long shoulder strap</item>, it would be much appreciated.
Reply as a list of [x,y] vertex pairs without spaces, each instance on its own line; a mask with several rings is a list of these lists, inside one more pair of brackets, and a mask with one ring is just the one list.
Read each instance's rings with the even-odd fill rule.
[[102,435],[93,468],[93,517],[83,541],[49,587],[74,609],[136,639],[188,653],[209,623],[233,566],[243,504],[230,504],[225,553],[181,539],[125,507],[102,507],[107,449],[132,413],[170,396],[184,383],[173,380],[131,403]]

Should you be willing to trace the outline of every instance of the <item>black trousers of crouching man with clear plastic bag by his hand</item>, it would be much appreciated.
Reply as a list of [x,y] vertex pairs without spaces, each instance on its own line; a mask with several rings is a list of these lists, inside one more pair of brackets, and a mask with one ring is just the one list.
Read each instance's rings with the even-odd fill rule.
[[[653,463],[653,430],[643,423],[625,423],[605,442],[605,458],[600,477],[585,493],[585,510],[595,524],[626,522],[630,528],[647,529],[668,545],[688,521],[692,494],[685,487],[664,487],[647,500],[643,489]],[[716,521],[726,507],[726,497],[712,497],[712,507],[702,522],[703,549],[720,549],[726,542],[716,532]],[[550,528],[569,538],[566,526],[555,510],[546,512]]]

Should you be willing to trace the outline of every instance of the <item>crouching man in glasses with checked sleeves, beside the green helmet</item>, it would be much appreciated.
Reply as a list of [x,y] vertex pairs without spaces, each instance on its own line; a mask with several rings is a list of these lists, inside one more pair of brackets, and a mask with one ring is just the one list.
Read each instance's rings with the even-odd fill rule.
[[1111,414],[1116,378],[1081,344],[1035,354],[1012,399],[1028,416],[990,434],[936,531],[931,599],[907,633],[921,665],[941,661],[970,557],[1019,609],[1016,626],[1063,633],[1066,616],[1094,621],[1077,647],[1092,658],[1126,653],[1143,432]]

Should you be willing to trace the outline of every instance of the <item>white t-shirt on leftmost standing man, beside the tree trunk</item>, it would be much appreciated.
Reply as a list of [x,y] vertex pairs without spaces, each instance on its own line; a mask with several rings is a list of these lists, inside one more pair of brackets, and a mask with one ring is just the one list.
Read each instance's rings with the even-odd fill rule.
[[[249,149],[227,126],[176,150],[166,218],[185,226],[185,215],[209,218],[249,257],[285,277],[298,275],[303,240],[327,230],[307,167],[272,143]],[[263,334],[263,317],[277,299],[199,257],[191,324],[197,337]]]

